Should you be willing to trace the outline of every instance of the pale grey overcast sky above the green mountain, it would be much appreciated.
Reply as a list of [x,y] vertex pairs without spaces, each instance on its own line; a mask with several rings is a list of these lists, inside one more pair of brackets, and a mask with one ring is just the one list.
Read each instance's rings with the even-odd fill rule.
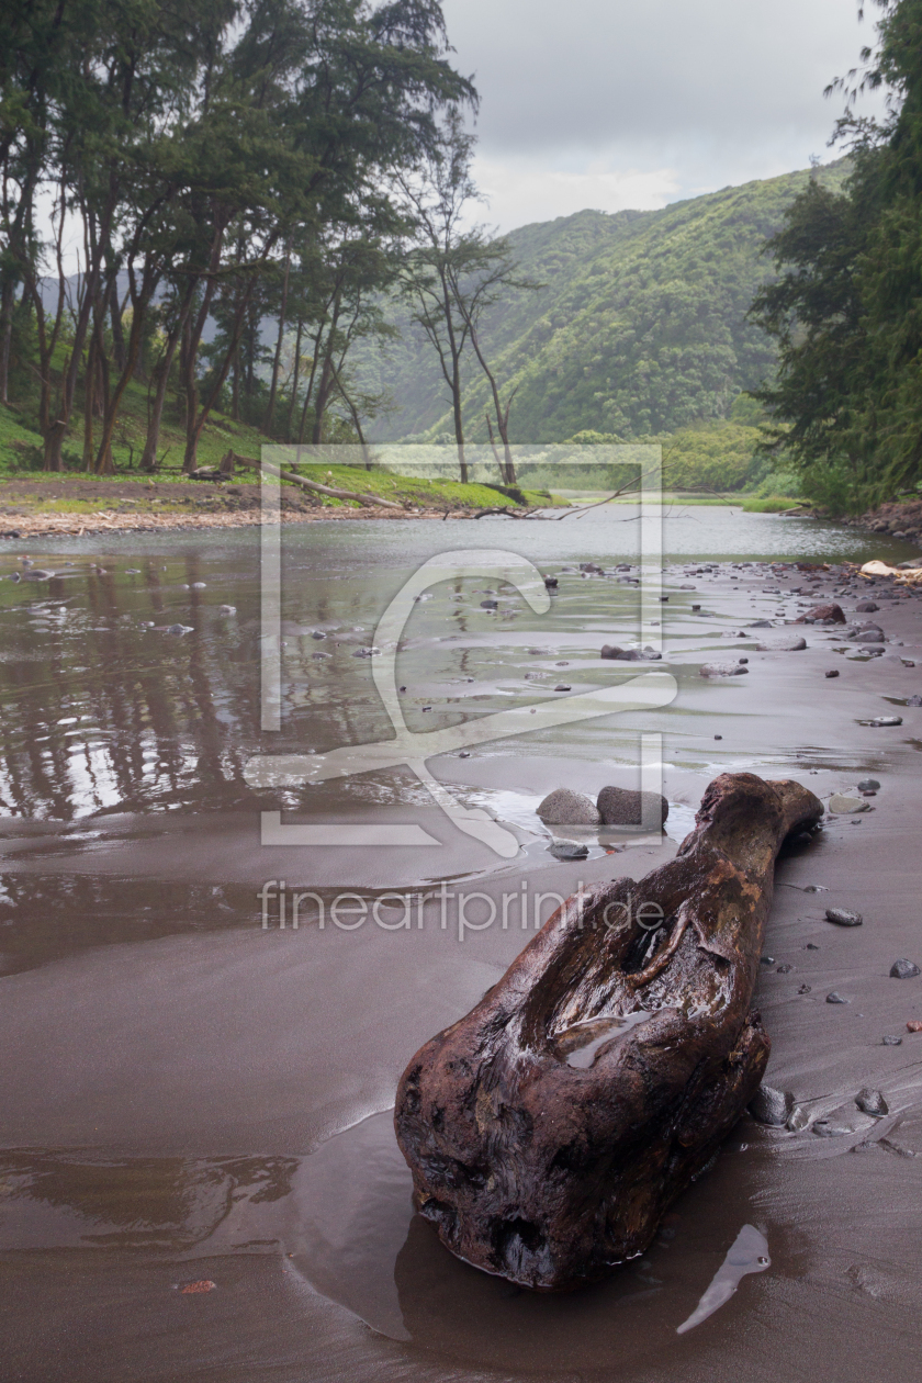
[[[872,7],[869,7],[871,14]],[[874,41],[857,0],[444,0],[500,230],[806,167]],[[864,101],[871,112],[875,102]]]

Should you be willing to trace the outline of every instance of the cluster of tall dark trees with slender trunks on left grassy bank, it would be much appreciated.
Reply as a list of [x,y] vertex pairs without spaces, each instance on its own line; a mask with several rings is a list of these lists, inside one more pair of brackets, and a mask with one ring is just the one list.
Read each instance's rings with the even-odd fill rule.
[[346,357],[386,329],[406,231],[388,178],[474,98],[446,51],[438,0],[1,8],[0,398],[46,469],[82,431],[84,467],[111,470],[138,382],[144,469],[170,408],[187,470],[220,404],[319,441],[337,401],[361,436],[376,400]]

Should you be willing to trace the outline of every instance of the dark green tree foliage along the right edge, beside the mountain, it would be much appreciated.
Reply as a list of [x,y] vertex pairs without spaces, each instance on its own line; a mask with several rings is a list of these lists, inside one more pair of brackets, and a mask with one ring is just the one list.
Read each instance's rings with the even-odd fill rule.
[[854,170],[793,202],[753,310],[780,349],[760,394],[774,447],[811,495],[853,510],[922,480],[922,0],[878,3],[860,83],[889,89],[889,116],[839,122]]

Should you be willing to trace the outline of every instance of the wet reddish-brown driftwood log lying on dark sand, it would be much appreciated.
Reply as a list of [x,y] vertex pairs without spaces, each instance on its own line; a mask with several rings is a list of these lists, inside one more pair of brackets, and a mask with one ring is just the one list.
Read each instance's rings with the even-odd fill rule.
[[722,774],[673,860],[568,899],[413,1057],[397,1138],[446,1247],[539,1289],[646,1250],[762,1080],[774,863],[821,816],[798,783]]

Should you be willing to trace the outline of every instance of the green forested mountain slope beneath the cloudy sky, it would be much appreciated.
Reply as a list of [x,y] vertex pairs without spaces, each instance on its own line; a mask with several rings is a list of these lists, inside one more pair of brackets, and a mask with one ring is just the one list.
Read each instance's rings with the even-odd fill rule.
[[[764,242],[811,178],[839,191],[846,160],[724,188],[658,212],[578,212],[509,236],[525,275],[543,288],[509,292],[481,337],[511,407],[514,441],[564,441],[578,431],[623,438],[672,433],[730,415],[742,390],[774,365],[770,339],[746,311],[773,277]],[[395,409],[369,429],[380,440],[449,430],[448,398],[431,347],[397,304],[401,331],[366,353],[368,387]],[[466,357],[466,427],[485,440],[488,401]]]

